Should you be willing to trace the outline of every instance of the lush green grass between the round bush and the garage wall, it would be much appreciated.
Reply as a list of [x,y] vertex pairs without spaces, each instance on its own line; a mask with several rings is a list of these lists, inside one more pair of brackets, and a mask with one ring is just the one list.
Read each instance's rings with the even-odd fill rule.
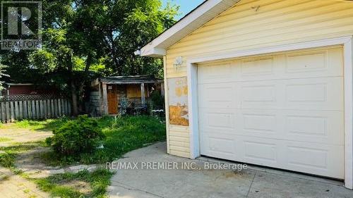
[[121,118],[99,118],[98,123],[106,139],[103,149],[92,154],[80,154],[78,157],[58,156],[53,151],[42,155],[42,159],[52,166],[65,166],[79,162],[84,164],[106,163],[118,159],[128,151],[146,144],[165,141],[165,125],[152,116],[124,116]]

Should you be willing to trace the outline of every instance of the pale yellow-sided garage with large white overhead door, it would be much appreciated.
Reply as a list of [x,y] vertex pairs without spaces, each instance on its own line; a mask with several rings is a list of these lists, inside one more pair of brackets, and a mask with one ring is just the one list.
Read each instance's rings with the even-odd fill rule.
[[352,189],[352,35],[352,1],[205,1],[138,51],[164,59],[167,152]]

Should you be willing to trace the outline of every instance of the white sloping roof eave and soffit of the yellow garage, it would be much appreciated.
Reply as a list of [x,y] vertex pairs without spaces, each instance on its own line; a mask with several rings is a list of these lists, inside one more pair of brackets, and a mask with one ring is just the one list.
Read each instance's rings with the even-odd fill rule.
[[139,51],[136,51],[140,56],[150,56],[161,58],[166,54],[166,49],[173,44],[179,42],[180,39],[191,34],[208,21],[212,20],[220,13],[237,4],[240,0],[206,0],[188,13],[184,18],[181,18],[172,27],[165,30],[152,42],[146,44]]

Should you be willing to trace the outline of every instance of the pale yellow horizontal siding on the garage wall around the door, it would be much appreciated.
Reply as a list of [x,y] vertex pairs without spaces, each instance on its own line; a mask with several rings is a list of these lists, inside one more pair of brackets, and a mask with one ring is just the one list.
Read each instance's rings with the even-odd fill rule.
[[[167,49],[164,81],[184,78],[192,58],[352,35],[349,1],[243,0]],[[175,69],[179,56],[183,63]],[[170,88],[168,95],[174,92]],[[189,157],[189,127],[168,125],[167,130],[169,154]]]

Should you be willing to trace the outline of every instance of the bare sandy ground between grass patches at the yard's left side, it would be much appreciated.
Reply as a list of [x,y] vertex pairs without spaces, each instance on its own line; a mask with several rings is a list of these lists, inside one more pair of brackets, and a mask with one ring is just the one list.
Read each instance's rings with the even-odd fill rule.
[[[35,131],[12,127],[11,124],[6,128],[0,128],[0,147],[17,147],[18,143],[23,143],[23,146],[35,145],[28,150],[21,151],[16,156],[16,169],[23,171],[29,178],[47,178],[49,175],[59,173],[77,173],[78,171],[88,170],[95,171],[97,165],[77,165],[70,167],[52,167],[47,166],[40,159],[40,154],[49,151],[47,147],[40,147],[37,143],[52,136],[50,131]],[[0,153],[4,152],[1,151]],[[87,187],[82,183],[68,183],[65,186],[86,190]],[[78,186],[78,187],[76,187]],[[83,191],[85,192],[85,191]],[[42,192],[34,182],[27,180],[20,175],[16,175],[8,168],[0,166],[0,197],[10,198],[34,198],[34,197],[50,197],[48,193]]]

